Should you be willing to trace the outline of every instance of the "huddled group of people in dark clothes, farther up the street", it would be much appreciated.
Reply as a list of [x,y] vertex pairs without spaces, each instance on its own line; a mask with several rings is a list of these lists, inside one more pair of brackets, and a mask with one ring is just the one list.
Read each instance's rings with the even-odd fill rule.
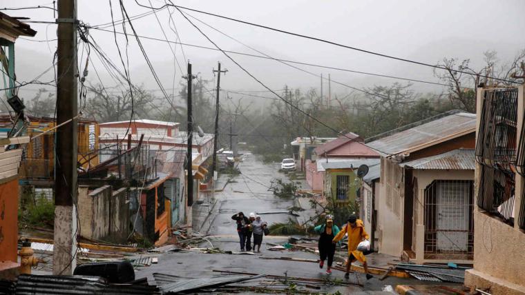
[[237,233],[239,234],[240,251],[251,251],[251,236],[254,236],[254,247],[257,246],[257,252],[260,252],[260,244],[262,243],[262,236],[267,232],[267,223],[262,221],[260,216],[251,212],[249,216],[239,212],[233,214],[231,219],[237,223]]

